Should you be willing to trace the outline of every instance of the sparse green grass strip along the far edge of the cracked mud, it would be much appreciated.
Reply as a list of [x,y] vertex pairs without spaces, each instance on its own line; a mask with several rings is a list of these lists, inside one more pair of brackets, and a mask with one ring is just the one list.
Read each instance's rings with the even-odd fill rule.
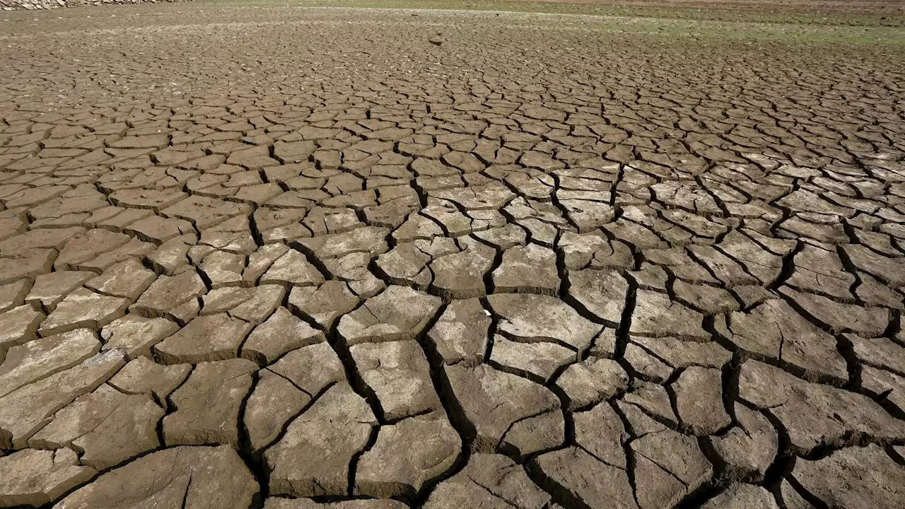
[[[593,0],[591,0],[593,1]],[[599,0],[609,2],[615,0]],[[795,0],[792,0],[794,2]],[[577,4],[544,0],[197,0],[185,4],[137,4],[84,7],[85,14],[124,15],[185,12],[178,23],[195,23],[204,19],[191,13],[208,10],[262,9],[262,16],[279,19],[304,19],[304,7],[348,7],[377,9],[455,9],[514,13],[584,14],[580,19],[569,16],[545,16],[551,28],[597,29],[613,34],[633,34],[659,39],[660,43],[706,42],[727,44],[845,44],[853,51],[900,56],[905,52],[905,14],[799,14],[751,10],[633,7],[619,5]],[[78,8],[77,8],[78,9]],[[55,12],[55,11],[54,11]],[[42,17],[44,28],[53,26],[57,14],[22,11],[6,13],[20,18],[10,33],[31,30],[33,17]],[[72,11],[80,12],[80,11]],[[240,16],[243,17],[243,16]],[[247,16],[246,16],[247,17]],[[253,17],[253,16],[252,16]],[[45,19],[47,18],[47,19]],[[146,18],[147,19],[147,18]],[[488,21],[497,19],[488,16]],[[534,24],[534,18],[520,18],[518,23]],[[150,20],[147,20],[150,23]],[[48,23],[49,22],[49,23]],[[62,20],[61,24],[67,22]],[[492,23],[492,21],[491,21]],[[26,30],[27,29],[27,30]],[[62,28],[58,28],[62,30]],[[768,50],[765,50],[768,51]]]

